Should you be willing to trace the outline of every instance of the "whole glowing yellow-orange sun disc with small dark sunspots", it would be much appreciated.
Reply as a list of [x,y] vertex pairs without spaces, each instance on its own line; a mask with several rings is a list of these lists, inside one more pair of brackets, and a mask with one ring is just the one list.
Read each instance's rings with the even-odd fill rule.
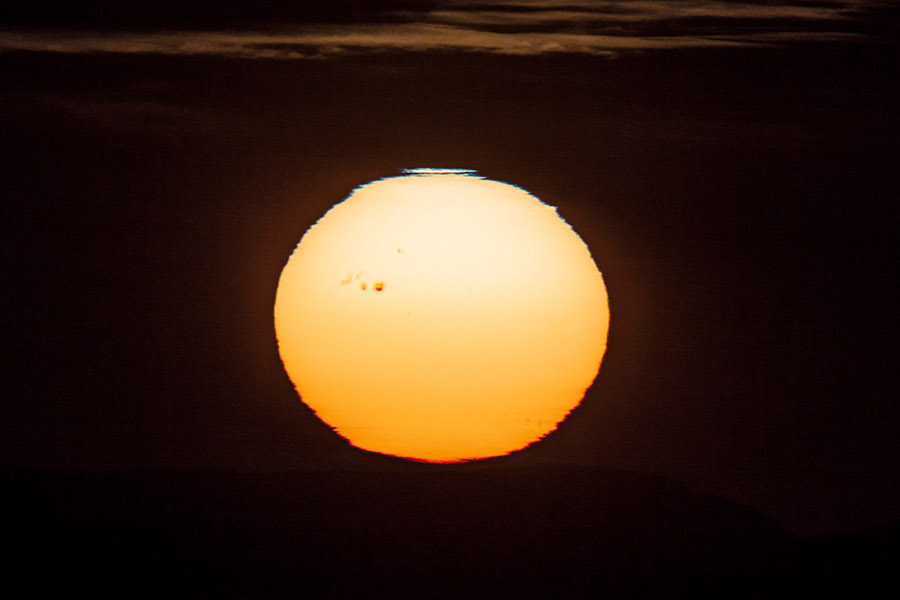
[[455,169],[357,188],[300,240],[275,298],[303,402],[354,446],[431,462],[556,429],[608,328],[603,278],[556,209]]

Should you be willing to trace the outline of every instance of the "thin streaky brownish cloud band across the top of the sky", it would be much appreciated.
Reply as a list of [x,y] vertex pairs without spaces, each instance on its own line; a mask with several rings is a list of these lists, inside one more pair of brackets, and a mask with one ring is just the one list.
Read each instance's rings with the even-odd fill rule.
[[[309,59],[378,51],[614,55],[646,49],[877,37],[877,2],[450,0],[358,13],[347,22],[272,20],[210,31],[8,28],[0,51]],[[318,21],[318,22],[317,22]],[[330,21],[330,22],[324,22]]]

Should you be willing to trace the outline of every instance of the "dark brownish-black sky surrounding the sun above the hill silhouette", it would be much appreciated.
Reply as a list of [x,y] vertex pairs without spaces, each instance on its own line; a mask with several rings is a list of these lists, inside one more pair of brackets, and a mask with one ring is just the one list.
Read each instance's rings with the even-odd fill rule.
[[297,398],[275,286],[354,187],[464,167],[610,294],[582,406],[503,460],[900,517],[890,3],[50,6],[0,11],[3,466],[390,463]]

